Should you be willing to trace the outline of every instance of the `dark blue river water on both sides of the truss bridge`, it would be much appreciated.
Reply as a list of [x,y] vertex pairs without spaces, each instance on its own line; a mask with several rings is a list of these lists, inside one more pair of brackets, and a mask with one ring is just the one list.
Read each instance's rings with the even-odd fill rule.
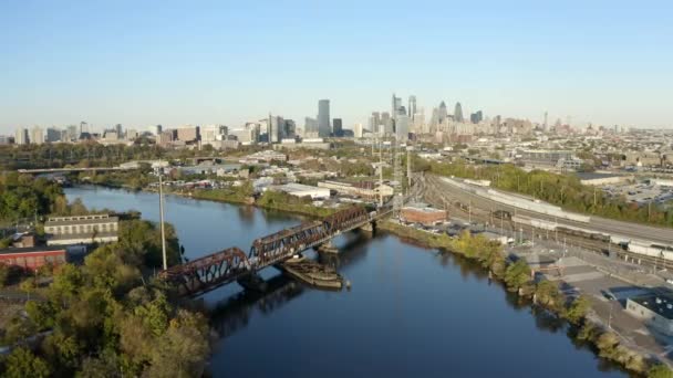
[[[156,195],[68,188],[89,208],[138,210],[158,220]],[[253,239],[301,218],[251,207],[166,197],[189,258]],[[335,241],[350,291],[304,287],[273,267],[270,290],[230,284],[204,296],[221,336],[216,377],[608,377],[625,376],[568,336],[567,326],[519,304],[459,258],[387,234],[348,233]]]

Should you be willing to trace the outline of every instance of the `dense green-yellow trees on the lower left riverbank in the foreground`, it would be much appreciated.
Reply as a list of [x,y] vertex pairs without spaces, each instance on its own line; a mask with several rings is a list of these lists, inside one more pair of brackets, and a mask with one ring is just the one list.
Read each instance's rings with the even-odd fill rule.
[[[28,316],[15,317],[3,337],[23,346],[1,363],[4,376],[203,374],[209,354],[206,318],[180,308],[161,281],[143,274],[161,259],[157,230],[131,221],[121,227],[120,239],[96,249],[81,267],[60,266],[49,287],[35,288],[44,300],[29,302]],[[177,242],[172,244],[170,259],[177,261]],[[28,342],[33,335],[40,335],[37,343]]]

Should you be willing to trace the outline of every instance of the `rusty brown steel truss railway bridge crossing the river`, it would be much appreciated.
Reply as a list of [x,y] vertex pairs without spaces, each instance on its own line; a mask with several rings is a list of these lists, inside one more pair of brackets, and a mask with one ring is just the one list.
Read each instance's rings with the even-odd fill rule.
[[232,246],[162,271],[161,276],[183,296],[196,296],[258,271],[281,263],[292,255],[329,242],[342,232],[362,228],[386,217],[392,208],[367,212],[362,207],[338,211],[322,220],[301,223],[252,242],[246,254]]

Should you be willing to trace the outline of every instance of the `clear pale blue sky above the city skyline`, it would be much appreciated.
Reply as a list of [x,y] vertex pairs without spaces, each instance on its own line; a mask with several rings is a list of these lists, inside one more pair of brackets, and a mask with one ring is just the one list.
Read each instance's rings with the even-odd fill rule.
[[0,134],[432,108],[673,127],[672,1],[0,0]]

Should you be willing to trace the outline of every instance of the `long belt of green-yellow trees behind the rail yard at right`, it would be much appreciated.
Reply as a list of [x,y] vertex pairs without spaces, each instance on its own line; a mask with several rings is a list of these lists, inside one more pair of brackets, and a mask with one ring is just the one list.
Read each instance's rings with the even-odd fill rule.
[[584,186],[576,175],[557,175],[542,170],[526,172],[512,165],[475,166],[418,159],[415,167],[441,176],[490,180],[491,186],[531,196],[563,209],[600,217],[673,227],[673,208],[639,207],[621,198],[603,196],[600,189]]

